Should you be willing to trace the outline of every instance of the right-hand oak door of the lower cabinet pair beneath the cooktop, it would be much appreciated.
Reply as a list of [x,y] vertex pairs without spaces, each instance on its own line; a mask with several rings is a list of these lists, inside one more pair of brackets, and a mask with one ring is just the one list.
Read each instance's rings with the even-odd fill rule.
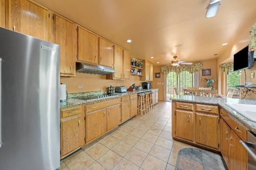
[[108,107],[107,111],[107,131],[118,126],[121,123],[121,107],[119,105],[114,105]]

